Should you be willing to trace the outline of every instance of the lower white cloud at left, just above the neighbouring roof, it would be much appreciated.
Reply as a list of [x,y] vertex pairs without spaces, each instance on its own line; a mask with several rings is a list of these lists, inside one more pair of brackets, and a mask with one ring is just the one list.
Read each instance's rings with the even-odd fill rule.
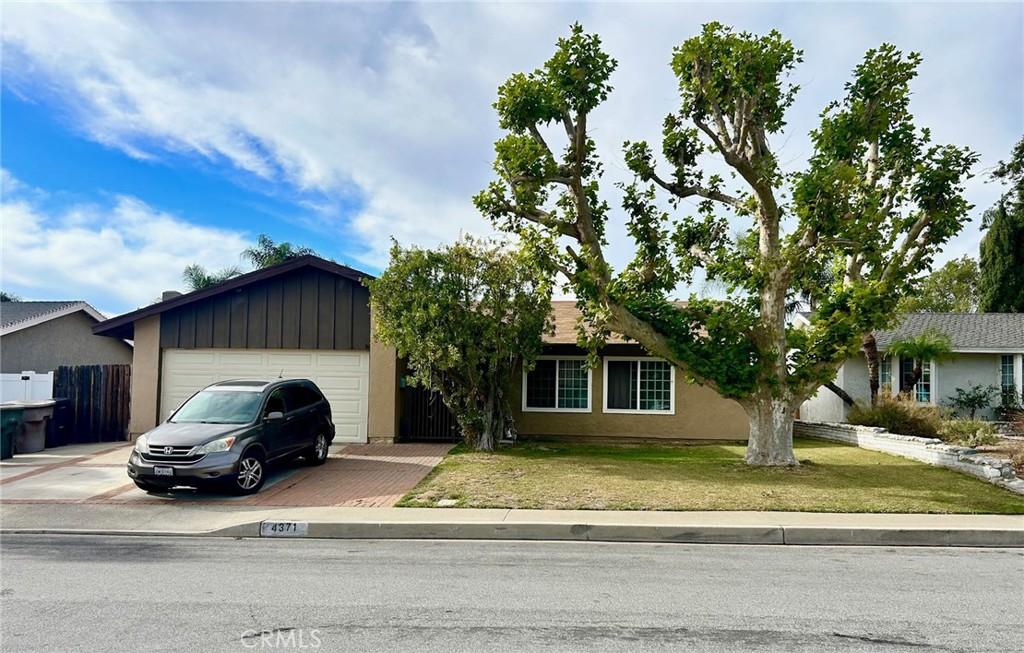
[[0,204],[2,284],[28,299],[86,299],[122,312],[180,289],[186,265],[238,265],[250,244],[241,233],[191,224],[135,198],[53,211],[38,192],[10,191],[18,186],[5,185]]

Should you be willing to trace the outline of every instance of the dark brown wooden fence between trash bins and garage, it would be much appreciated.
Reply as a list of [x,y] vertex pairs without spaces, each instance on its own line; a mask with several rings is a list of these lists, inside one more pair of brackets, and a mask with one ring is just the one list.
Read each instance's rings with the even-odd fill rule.
[[57,367],[53,396],[69,399],[68,444],[128,439],[131,365]]

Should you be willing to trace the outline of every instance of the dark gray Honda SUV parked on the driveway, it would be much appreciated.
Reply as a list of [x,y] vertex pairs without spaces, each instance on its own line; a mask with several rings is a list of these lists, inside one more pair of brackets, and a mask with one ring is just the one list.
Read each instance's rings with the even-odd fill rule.
[[147,491],[218,485],[259,491],[267,465],[327,460],[331,405],[305,379],[223,381],[200,390],[135,441],[128,476]]

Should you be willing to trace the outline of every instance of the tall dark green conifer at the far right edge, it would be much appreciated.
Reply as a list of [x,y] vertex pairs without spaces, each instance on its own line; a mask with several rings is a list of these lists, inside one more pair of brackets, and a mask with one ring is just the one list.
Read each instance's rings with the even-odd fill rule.
[[985,213],[982,225],[987,231],[980,248],[981,310],[1024,312],[1024,138],[992,177],[1010,189]]

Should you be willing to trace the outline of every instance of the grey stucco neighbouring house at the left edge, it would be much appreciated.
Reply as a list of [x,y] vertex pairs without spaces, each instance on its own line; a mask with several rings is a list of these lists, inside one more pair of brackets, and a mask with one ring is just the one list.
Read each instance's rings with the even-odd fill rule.
[[130,364],[132,347],[97,338],[106,319],[85,302],[0,302],[0,373],[46,374],[60,365]]

